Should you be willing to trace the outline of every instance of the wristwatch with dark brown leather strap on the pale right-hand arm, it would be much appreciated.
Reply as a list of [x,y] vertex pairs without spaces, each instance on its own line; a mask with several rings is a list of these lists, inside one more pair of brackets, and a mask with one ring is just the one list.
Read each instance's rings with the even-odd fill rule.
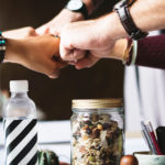
[[122,0],[119,3],[114,6],[114,11],[117,11],[120,21],[129,34],[129,36],[133,40],[140,40],[145,37],[148,33],[142,32],[134,23],[129,7],[134,2],[135,0]]

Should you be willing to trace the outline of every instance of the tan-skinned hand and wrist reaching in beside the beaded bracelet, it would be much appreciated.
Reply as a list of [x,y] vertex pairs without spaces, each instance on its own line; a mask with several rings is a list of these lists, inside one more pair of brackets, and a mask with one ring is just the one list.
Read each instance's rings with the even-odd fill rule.
[[[54,57],[58,58],[54,61]],[[32,70],[57,78],[65,67],[59,59],[59,38],[53,35],[8,40],[4,62],[19,63]]]

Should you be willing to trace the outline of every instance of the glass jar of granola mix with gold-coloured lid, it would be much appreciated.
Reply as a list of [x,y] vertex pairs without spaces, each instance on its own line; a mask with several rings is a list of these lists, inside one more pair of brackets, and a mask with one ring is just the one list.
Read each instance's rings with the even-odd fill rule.
[[119,165],[123,155],[122,99],[73,100],[72,165]]

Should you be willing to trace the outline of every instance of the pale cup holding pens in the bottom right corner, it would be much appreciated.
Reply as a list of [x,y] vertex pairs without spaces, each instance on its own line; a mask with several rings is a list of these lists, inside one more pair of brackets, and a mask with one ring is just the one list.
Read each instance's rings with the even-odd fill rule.
[[139,165],[165,165],[165,155],[151,155],[148,152],[136,152]]

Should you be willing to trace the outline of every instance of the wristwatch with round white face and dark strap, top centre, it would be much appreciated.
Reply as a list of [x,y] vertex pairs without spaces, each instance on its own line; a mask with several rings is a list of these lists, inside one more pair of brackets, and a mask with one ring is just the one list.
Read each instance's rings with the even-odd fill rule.
[[65,9],[68,9],[73,12],[80,12],[85,19],[88,18],[87,7],[81,0],[69,0]]

